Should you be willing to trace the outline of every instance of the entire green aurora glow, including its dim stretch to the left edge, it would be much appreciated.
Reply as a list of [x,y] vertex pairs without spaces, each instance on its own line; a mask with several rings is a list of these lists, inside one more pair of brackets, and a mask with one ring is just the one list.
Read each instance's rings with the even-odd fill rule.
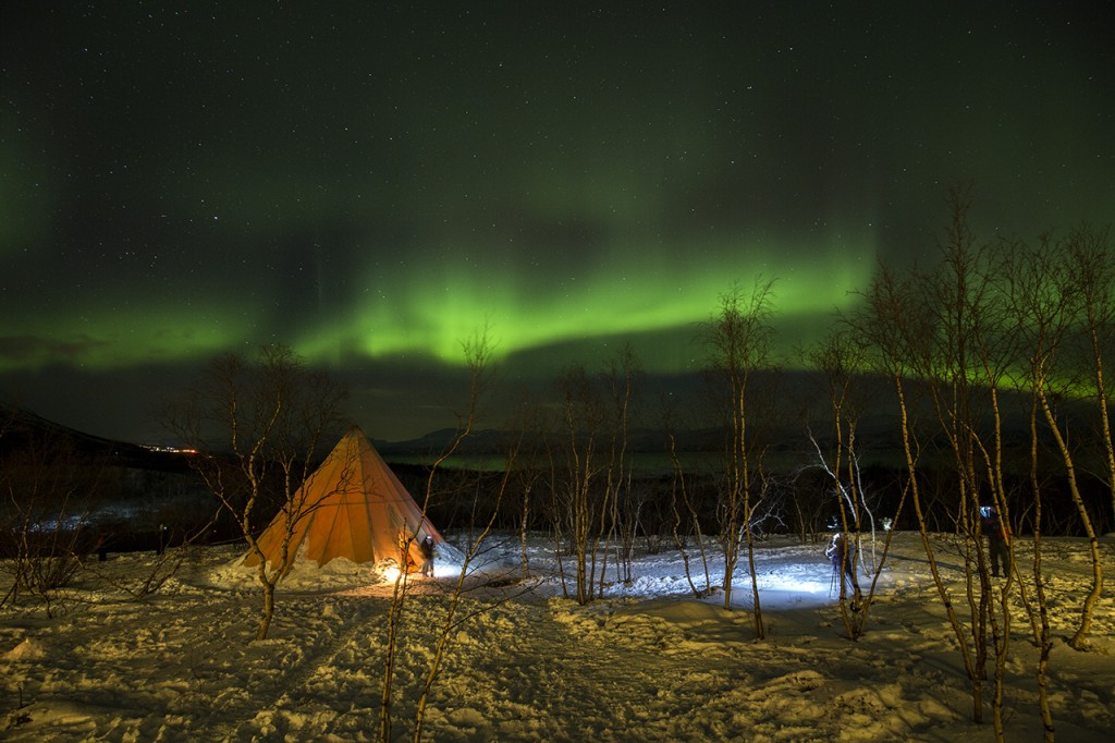
[[[265,342],[287,342],[311,363],[343,367],[353,361],[410,358],[459,366],[462,346],[486,332],[495,358],[506,359],[549,346],[576,348],[593,363],[618,342],[630,341],[649,372],[691,370],[698,325],[716,311],[734,286],[748,291],[759,279],[775,281],[774,322],[827,328],[834,309],[847,309],[850,292],[866,286],[874,267],[870,234],[850,243],[833,237],[815,250],[808,268],[791,257],[801,247],[779,248],[759,238],[691,244],[686,250],[636,249],[617,243],[592,268],[553,269],[552,281],[539,268],[491,266],[492,258],[446,260],[440,266],[360,267],[345,281],[358,297],[350,307],[324,297],[306,312],[292,337],[269,327],[268,308],[282,301],[221,287],[198,287],[187,305],[174,292],[135,296],[122,288],[116,300],[98,292],[94,307],[78,315],[0,324],[9,337],[50,337],[50,346],[28,345],[6,357],[6,369],[35,369],[55,363],[104,372],[143,363],[203,360],[224,351],[245,351]],[[434,251],[437,252],[437,251]],[[458,248],[446,253],[462,254]],[[640,255],[631,259],[630,255]],[[511,261],[508,261],[511,262]],[[328,272],[328,268],[319,267]],[[310,277],[301,290],[321,289],[329,277]],[[17,325],[19,326],[17,328]],[[779,336],[788,353],[796,335]],[[643,339],[646,342],[640,342]],[[597,358],[592,358],[597,356]],[[791,363],[793,363],[791,360]]]

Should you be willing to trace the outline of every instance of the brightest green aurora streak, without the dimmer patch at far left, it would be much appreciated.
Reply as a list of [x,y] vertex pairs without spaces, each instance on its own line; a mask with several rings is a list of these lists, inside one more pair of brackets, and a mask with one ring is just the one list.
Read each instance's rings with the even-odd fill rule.
[[[670,254],[620,248],[583,278],[574,273],[535,292],[524,289],[531,283],[525,277],[488,273],[478,264],[443,268],[399,295],[370,292],[351,322],[318,328],[317,338],[300,339],[297,346],[310,358],[348,348],[374,358],[425,354],[459,364],[462,342],[486,328],[500,357],[592,339],[634,342],[640,335],[663,331],[691,347],[697,324],[712,316],[720,296],[735,283],[746,291],[755,280],[774,279],[776,324],[801,317],[823,320],[836,308],[847,309],[850,292],[865,288],[874,270],[870,243],[859,251],[843,245],[816,251],[817,260],[807,269],[780,258],[801,254],[797,250],[748,249],[741,241],[737,248],[705,251],[720,258],[701,261],[699,250]],[[780,346],[788,350],[789,344]],[[679,359],[692,349],[679,355],[681,350],[658,349],[643,363],[652,372],[682,372],[689,364]],[[588,359],[566,363],[574,360]]]

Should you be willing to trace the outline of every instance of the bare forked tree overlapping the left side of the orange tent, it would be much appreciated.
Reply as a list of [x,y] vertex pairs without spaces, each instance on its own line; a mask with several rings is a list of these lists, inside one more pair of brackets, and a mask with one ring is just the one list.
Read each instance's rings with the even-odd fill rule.
[[[339,434],[346,396],[289,347],[264,346],[251,360],[215,359],[166,416],[171,431],[198,451],[191,462],[248,542],[263,594],[256,640],[268,636],[275,587],[293,565],[294,531],[329,495],[311,496],[310,480],[321,445]],[[258,540],[272,514],[282,534],[277,561]]]

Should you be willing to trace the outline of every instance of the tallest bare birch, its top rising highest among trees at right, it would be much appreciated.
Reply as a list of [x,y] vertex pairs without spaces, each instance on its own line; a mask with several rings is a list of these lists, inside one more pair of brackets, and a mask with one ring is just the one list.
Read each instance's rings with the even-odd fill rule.
[[[904,280],[882,272],[871,293],[873,340],[890,357],[900,399],[906,378],[918,382],[932,415],[933,440],[943,442],[932,454],[951,470],[951,492],[938,508],[948,509],[963,558],[963,597],[968,618],[940,579],[928,529],[918,472],[911,466],[911,494],[922,542],[933,566],[934,583],[947,607],[972,695],[972,718],[982,721],[986,665],[995,656],[995,693],[990,698],[996,732],[1002,735],[1002,682],[1010,638],[1009,595],[1012,575],[1001,587],[989,580],[982,549],[980,506],[1009,518],[1002,469],[1002,414],[999,390],[1016,360],[1010,316],[1002,299],[997,252],[978,244],[969,226],[970,187],[948,195],[950,213],[941,261],[930,271],[911,269]],[[903,402],[903,404],[905,404]],[[937,459],[939,457],[939,459]],[[909,456],[908,456],[909,460]]]

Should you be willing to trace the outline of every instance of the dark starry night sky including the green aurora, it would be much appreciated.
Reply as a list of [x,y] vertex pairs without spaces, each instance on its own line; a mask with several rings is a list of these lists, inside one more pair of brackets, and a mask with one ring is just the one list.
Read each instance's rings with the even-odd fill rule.
[[951,183],[980,237],[1115,219],[1105,3],[600,4],[6,2],[0,396],[162,440],[285,342],[400,440],[485,324],[508,388],[683,374],[734,282],[788,351],[932,260]]

